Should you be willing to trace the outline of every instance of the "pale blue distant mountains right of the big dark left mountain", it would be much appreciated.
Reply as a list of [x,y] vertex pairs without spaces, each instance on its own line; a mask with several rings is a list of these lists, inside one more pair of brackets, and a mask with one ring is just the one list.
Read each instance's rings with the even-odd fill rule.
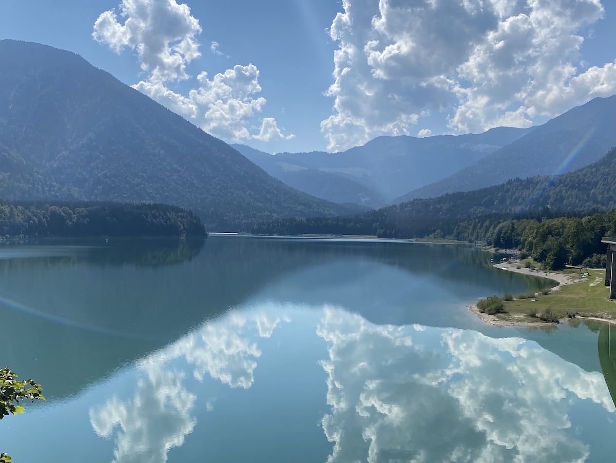
[[482,134],[377,137],[339,153],[274,156],[233,145],[286,184],[333,202],[370,207],[564,173],[616,145],[616,96],[596,98],[544,125]]

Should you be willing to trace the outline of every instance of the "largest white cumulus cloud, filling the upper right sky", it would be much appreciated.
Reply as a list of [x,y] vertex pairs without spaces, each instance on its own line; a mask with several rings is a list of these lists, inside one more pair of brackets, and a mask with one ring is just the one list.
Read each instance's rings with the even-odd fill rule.
[[527,127],[616,92],[616,62],[585,68],[582,30],[599,0],[344,0],[330,28],[338,43],[328,149],[409,134],[443,110],[456,133]]

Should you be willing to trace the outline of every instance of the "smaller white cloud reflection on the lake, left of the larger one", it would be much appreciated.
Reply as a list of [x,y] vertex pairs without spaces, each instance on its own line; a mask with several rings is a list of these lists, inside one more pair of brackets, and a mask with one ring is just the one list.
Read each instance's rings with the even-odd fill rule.
[[[270,337],[283,321],[290,319],[270,311],[250,316],[231,313],[140,361],[134,398],[121,401],[114,395],[89,411],[95,433],[115,441],[113,463],[164,463],[169,449],[181,446],[193,431],[197,396],[187,390],[185,373],[174,370],[172,361],[184,358],[199,381],[207,374],[229,387],[248,389],[261,356],[253,339]],[[215,400],[207,399],[208,412]]]

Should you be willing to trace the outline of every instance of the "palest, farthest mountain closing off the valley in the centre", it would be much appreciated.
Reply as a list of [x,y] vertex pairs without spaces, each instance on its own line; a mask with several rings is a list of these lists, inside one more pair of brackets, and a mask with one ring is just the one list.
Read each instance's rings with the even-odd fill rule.
[[[305,168],[351,179],[391,202],[410,189],[427,185],[471,165],[532,130],[498,127],[482,134],[458,136],[381,136],[344,152],[279,153],[274,159],[287,172]],[[257,165],[261,165],[259,162],[271,162],[251,157],[243,149],[239,150]],[[268,170],[265,165],[261,166]],[[268,171],[282,179],[278,176],[280,170]],[[330,178],[341,182],[338,178]],[[289,184],[295,186],[292,179],[289,181]],[[358,194],[355,183],[352,184],[355,190],[348,192],[351,197],[357,197]],[[336,200],[336,197],[330,198],[342,202]]]

